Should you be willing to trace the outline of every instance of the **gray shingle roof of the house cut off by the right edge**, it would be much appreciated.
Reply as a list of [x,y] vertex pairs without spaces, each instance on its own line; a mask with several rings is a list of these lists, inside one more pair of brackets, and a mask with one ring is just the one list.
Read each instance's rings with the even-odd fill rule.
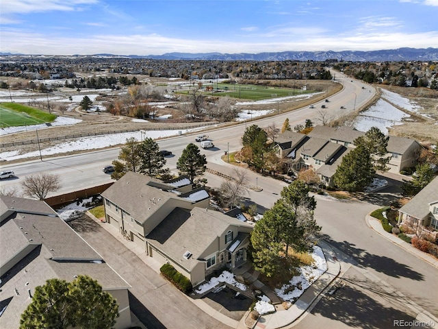
[[429,214],[429,204],[438,201],[438,176],[427,184],[422,191],[400,208],[400,212],[423,219]]

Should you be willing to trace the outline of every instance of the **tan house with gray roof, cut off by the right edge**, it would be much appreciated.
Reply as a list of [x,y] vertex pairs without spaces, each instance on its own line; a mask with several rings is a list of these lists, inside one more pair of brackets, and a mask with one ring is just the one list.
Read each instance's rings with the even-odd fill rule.
[[398,210],[398,224],[438,230],[438,176]]

